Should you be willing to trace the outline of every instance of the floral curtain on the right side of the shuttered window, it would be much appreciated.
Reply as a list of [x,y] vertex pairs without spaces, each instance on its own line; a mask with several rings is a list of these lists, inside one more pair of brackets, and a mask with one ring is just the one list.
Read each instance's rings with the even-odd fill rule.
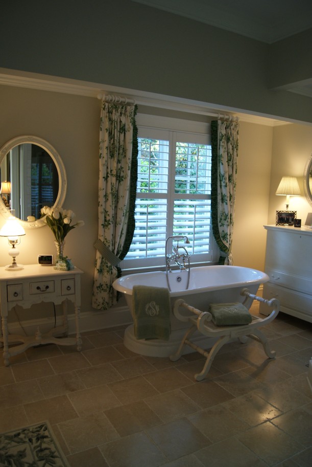
[[232,237],[236,192],[238,122],[211,122],[212,230],[220,248],[219,264],[233,264]]

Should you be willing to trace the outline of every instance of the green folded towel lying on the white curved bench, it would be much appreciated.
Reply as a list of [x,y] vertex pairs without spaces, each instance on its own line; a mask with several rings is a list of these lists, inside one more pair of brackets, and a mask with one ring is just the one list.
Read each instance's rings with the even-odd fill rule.
[[252,322],[252,316],[243,303],[210,303],[209,313],[217,326],[243,325]]

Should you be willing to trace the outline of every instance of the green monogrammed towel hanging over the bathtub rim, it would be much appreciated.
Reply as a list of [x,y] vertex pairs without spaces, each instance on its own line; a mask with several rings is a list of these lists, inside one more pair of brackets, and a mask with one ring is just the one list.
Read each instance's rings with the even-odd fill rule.
[[132,308],[136,339],[169,340],[171,307],[167,288],[134,285]]

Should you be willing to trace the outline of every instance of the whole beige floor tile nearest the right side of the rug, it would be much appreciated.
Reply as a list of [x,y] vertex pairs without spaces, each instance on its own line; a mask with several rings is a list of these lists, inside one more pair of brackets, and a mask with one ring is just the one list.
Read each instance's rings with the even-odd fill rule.
[[[118,433],[103,413],[75,418],[58,424],[70,454],[94,448],[119,438]],[[89,467],[89,464],[87,464]]]

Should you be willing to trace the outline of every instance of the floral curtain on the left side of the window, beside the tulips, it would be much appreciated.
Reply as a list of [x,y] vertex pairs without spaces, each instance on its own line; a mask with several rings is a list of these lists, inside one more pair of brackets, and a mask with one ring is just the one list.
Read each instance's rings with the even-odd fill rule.
[[[92,306],[116,302],[113,281],[134,233],[137,180],[137,107],[103,102],[100,124],[99,238]],[[95,242],[95,243],[97,243]],[[102,248],[101,248],[102,246]]]

